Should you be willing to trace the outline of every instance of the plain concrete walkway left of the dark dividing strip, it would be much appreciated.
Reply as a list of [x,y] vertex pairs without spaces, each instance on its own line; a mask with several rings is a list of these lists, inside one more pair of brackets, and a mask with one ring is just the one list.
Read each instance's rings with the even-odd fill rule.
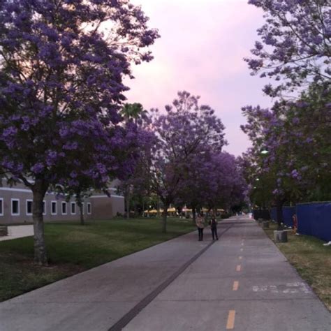
[[108,330],[205,249],[206,237],[189,233],[2,302],[0,331]]

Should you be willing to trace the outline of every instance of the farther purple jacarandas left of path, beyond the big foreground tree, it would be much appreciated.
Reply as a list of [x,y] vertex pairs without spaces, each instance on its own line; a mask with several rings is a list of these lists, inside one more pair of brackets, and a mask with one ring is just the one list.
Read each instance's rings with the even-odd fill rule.
[[246,184],[240,163],[222,152],[224,126],[212,108],[200,105],[199,98],[187,91],[178,92],[172,105],[165,106],[165,113],[152,109],[147,114],[141,105],[126,106],[130,108],[136,108],[132,121],[140,122],[153,138],[122,184],[127,203],[130,192],[156,196],[163,205],[165,232],[166,210],[172,203],[191,207],[194,218],[202,207],[228,209],[244,200]]

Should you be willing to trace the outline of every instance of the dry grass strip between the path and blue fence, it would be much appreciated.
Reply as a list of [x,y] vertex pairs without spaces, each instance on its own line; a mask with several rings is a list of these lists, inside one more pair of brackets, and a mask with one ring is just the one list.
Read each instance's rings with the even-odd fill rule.
[[[276,229],[273,223],[265,229],[272,240]],[[294,235],[292,231],[288,231],[288,242],[277,243],[277,247],[331,311],[331,247],[323,246],[316,237]]]

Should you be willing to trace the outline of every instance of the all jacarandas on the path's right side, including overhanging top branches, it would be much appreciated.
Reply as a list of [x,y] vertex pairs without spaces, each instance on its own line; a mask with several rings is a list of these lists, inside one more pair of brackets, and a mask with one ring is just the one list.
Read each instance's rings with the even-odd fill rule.
[[270,109],[242,108],[252,142],[243,155],[251,200],[260,207],[331,200],[331,16],[328,0],[256,1],[266,23],[246,59]]

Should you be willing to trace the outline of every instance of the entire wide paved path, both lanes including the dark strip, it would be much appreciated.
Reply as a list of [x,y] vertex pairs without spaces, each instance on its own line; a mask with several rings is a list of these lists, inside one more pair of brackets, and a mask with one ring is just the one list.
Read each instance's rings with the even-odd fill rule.
[[0,330],[330,331],[331,314],[255,222],[226,220],[0,304]]

